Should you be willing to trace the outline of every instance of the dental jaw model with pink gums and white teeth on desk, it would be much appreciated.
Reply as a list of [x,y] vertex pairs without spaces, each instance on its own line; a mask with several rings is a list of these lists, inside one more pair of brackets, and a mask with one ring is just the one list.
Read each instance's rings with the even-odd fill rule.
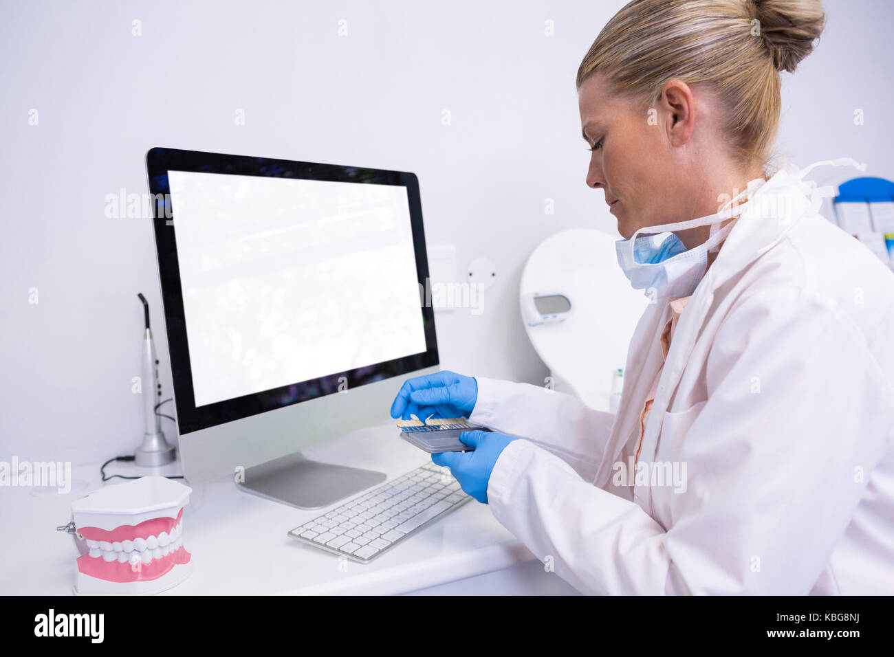
[[190,577],[183,508],[192,489],[164,476],[100,488],[72,503],[75,594],[156,594]]

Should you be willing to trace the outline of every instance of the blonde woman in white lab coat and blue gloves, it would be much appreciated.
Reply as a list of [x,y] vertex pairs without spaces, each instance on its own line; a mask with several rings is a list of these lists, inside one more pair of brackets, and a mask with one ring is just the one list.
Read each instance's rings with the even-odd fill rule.
[[434,462],[580,591],[894,593],[894,274],[806,171],[763,175],[780,71],[823,22],[818,0],[635,0],[581,63],[586,182],[654,301],[617,417],[451,372],[394,400],[493,428]]

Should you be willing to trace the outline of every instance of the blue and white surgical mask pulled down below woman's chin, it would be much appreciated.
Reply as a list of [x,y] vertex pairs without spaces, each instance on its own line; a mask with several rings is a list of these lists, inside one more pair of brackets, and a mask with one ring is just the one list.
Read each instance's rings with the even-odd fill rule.
[[[634,289],[645,290],[645,295],[650,299],[691,295],[707,269],[709,251],[720,248],[735,222],[730,222],[723,228],[720,228],[720,224],[741,214],[741,205],[728,206],[748,194],[749,190],[753,192],[760,183],[763,183],[762,178],[750,181],[745,191],[736,198],[731,198],[713,215],[685,222],[646,226],[633,233],[629,240],[615,242],[618,264]],[[711,226],[710,237],[704,244],[688,250],[679,237],[672,233],[699,226]],[[644,231],[649,234],[640,237],[639,233]],[[661,240],[659,238],[662,236],[656,233],[663,232],[671,232],[671,235]]]

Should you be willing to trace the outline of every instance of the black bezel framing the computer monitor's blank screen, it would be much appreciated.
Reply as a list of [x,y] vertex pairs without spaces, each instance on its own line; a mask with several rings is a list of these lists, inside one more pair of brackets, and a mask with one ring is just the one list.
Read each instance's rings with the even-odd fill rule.
[[419,305],[426,337],[426,351],[197,407],[192,385],[190,349],[177,256],[176,213],[170,198],[168,172],[229,173],[405,187],[409,200],[417,282],[420,291],[427,291],[428,259],[419,182],[416,174],[409,172],[166,147],[150,148],[146,155],[146,167],[149,191],[153,200],[152,222],[164,305],[164,325],[171,358],[177,428],[181,435],[438,365],[434,310],[431,304],[426,304],[428,294],[422,293]]

